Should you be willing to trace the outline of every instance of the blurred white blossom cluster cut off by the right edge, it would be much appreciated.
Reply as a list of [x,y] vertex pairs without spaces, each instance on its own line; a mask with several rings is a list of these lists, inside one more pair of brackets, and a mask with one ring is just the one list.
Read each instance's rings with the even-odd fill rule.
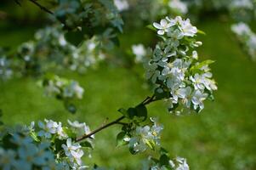
[[243,22],[232,25],[231,30],[236,34],[251,59],[256,60],[256,34]]

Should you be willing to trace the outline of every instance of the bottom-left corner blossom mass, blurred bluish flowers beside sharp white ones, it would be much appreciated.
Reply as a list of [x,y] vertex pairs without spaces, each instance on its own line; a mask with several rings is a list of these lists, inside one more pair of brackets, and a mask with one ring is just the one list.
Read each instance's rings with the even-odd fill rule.
[[[45,119],[38,126],[17,127],[1,134],[1,169],[85,169],[82,156],[90,156],[92,140],[77,143],[79,133],[90,133],[85,123],[70,122],[63,127],[61,122]],[[86,152],[84,152],[86,151]],[[37,169],[36,168],[36,169]]]

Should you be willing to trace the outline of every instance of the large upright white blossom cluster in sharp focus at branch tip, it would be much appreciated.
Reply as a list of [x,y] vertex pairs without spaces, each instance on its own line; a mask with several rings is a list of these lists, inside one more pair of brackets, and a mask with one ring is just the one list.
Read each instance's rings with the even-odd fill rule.
[[213,61],[198,61],[195,48],[202,42],[196,41],[196,26],[180,16],[166,17],[153,26],[163,39],[146,65],[146,78],[156,85],[156,97],[168,100],[169,111],[179,105],[202,111],[203,101],[212,98],[217,86],[208,67]]

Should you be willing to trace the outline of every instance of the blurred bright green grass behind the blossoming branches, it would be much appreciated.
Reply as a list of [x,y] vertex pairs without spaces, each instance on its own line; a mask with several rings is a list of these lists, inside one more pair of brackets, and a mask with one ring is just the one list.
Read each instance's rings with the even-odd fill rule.
[[[191,169],[256,169],[256,63],[239,47],[230,32],[230,23],[218,18],[201,20],[197,25],[207,36],[199,49],[201,59],[216,60],[213,75],[219,85],[215,101],[207,102],[200,114],[174,116],[168,114],[162,102],[149,106],[150,116],[159,116],[165,129],[162,144],[173,156],[187,158]],[[34,28],[0,31],[0,45],[15,47],[32,37]],[[122,46],[135,42],[151,44],[145,31],[131,31],[121,37]],[[138,39],[138,37],[141,38]],[[139,71],[143,71],[139,69]],[[0,108],[3,121],[9,125],[29,123],[44,117],[65,122],[66,119],[88,122],[95,128],[118,115],[117,109],[138,104],[151,91],[144,88],[134,71],[118,66],[100,65],[84,76],[65,72],[82,84],[85,95],[79,101],[76,115],[70,115],[55,99],[43,97],[43,90],[31,77],[0,82]],[[139,159],[131,156],[126,147],[116,149],[118,127],[96,135],[93,159],[86,160],[117,169],[139,169]]]

